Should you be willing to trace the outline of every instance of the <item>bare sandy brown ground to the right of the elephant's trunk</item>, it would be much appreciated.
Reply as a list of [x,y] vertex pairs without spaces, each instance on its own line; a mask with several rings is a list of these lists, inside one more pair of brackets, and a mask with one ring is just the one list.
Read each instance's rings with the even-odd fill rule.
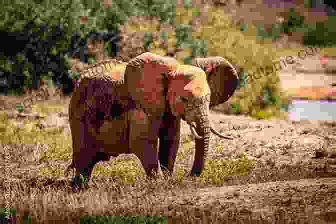
[[[63,103],[66,106],[68,98]],[[156,193],[153,206],[157,203],[162,211],[171,206],[215,207],[228,216],[256,219],[278,215],[278,223],[308,220],[310,214],[314,216],[310,223],[336,223],[336,122],[256,120],[215,111],[211,120],[217,130],[234,139],[213,136],[208,159],[237,159],[247,153],[256,167],[247,176],[228,176],[223,185],[162,192],[161,197]],[[189,134],[182,121],[181,138]],[[225,150],[217,151],[218,144]],[[191,169],[193,156],[192,151],[189,159],[176,166]],[[164,198],[165,205],[159,198]]]

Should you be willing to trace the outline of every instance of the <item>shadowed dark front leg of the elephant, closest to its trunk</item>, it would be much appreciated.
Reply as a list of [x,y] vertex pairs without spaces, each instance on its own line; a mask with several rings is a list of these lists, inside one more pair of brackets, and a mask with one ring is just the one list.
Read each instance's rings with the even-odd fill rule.
[[165,112],[158,136],[160,138],[158,149],[160,167],[164,168],[171,175],[179,145],[180,118],[177,118],[170,112]]

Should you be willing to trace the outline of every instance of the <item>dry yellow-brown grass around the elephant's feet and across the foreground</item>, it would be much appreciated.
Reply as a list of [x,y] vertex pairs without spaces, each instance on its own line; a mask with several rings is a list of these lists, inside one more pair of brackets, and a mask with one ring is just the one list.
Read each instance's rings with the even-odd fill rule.
[[[50,110],[61,111],[62,106],[56,109],[57,106],[52,105]],[[220,199],[215,195],[219,189],[229,189],[227,185],[307,178],[325,168],[321,166],[311,171],[312,168],[300,165],[274,166],[272,159],[265,164],[256,163],[246,152],[239,152],[241,150],[230,152],[239,152],[237,156],[224,156],[228,153],[227,146],[219,141],[210,149],[211,159],[206,161],[202,175],[188,178],[189,168],[181,164],[192,162],[194,142],[189,135],[183,135],[171,177],[146,179],[136,156],[122,154],[98,163],[89,188],[75,194],[71,192],[69,177],[63,174],[71,159],[71,137],[59,130],[47,133],[35,127],[29,131],[17,128],[4,113],[0,118],[0,164],[4,168],[0,169],[0,207],[6,202],[15,208],[17,223],[275,223],[280,214],[283,215],[281,223],[295,223],[295,216],[293,218],[289,210],[278,208],[262,218],[248,207],[248,198],[244,199],[246,202],[236,199],[232,203],[229,202],[231,196]],[[34,123],[25,122],[26,125]],[[244,123],[235,128],[249,127]],[[232,156],[235,159],[223,159]],[[197,199],[199,192],[202,189],[206,192],[209,187],[214,188],[206,195],[213,193],[217,199]],[[247,185],[238,186],[239,189],[245,187]],[[233,193],[233,197],[239,194]],[[272,197],[269,195],[268,200]],[[306,200],[304,206],[310,203]],[[325,223],[318,222],[309,209],[300,215],[301,220]]]

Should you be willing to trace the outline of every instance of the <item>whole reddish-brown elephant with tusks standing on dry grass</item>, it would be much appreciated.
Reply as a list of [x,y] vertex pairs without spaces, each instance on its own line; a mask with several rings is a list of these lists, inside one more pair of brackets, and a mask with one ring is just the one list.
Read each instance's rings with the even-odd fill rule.
[[195,138],[192,176],[204,167],[211,132],[232,139],[215,130],[209,119],[209,108],[226,101],[239,80],[224,58],[195,58],[186,65],[144,52],[122,63],[116,73],[110,69],[86,75],[71,97],[73,155],[65,172],[75,168],[74,191],[81,188],[80,175],[89,179],[96,162],[120,153],[134,153],[149,177],[160,168],[171,174],[181,119]]

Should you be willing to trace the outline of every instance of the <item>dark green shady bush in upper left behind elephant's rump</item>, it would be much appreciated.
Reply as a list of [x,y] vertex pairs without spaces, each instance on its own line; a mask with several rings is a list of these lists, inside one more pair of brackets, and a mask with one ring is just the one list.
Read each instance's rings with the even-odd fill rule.
[[[0,54],[1,79],[7,90],[22,94],[23,87],[38,88],[41,77],[46,76],[62,87],[64,93],[72,91],[72,79],[68,71],[68,56],[79,56],[87,61],[87,38],[110,39],[109,53],[117,55],[120,35],[114,33],[122,16],[131,11],[119,10],[107,13],[102,1],[65,0],[3,2],[0,12],[0,34],[7,47]],[[125,7],[127,8],[127,7]],[[87,24],[80,24],[79,16],[89,15]],[[113,17],[114,20],[111,20]],[[124,16],[125,18],[127,16]],[[109,32],[104,33],[109,29]],[[92,37],[92,33],[102,32]],[[14,41],[14,42],[13,42]],[[87,49],[87,47],[86,47]]]

